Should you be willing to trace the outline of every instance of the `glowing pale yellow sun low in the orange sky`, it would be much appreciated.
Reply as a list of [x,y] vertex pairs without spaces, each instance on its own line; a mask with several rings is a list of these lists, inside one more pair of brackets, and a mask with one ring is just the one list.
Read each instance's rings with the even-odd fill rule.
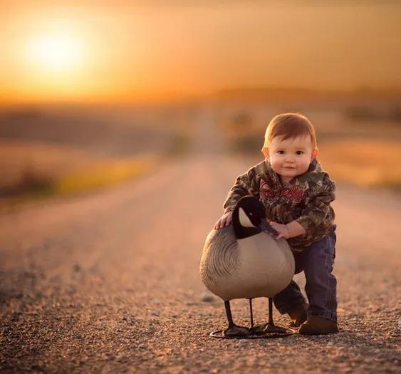
[[74,68],[82,60],[79,39],[63,33],[32,38],[28,53],[31,63],[54,72]]

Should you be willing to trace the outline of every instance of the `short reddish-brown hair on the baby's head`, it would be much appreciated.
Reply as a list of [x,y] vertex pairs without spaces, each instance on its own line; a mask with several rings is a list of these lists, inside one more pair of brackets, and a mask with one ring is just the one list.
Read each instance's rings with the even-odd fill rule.
[[318,147],[315,129],[308,118],[300,113],[283,113],[276,115],[266,128],[262,152],[266,148],[269,148],[271,140],[276,136],[283,137],[283,140],[286,140],[300,135],[309,135],[312,140],[313,149]]

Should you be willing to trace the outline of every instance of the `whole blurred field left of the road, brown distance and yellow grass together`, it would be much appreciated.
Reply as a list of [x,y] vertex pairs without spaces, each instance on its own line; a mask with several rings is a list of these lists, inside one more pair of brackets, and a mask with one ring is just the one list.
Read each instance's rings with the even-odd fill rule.
[[187,149],[187,108],[30,108],[0,112],[0,206],[76,194],[146,173]]

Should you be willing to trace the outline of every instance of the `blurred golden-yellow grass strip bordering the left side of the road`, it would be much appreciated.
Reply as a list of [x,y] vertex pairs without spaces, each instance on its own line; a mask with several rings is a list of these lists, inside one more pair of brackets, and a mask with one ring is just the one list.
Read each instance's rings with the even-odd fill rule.
[[33,142],[0,143],[0,206],[67,196],[140,177],[160,156],[105,157]]

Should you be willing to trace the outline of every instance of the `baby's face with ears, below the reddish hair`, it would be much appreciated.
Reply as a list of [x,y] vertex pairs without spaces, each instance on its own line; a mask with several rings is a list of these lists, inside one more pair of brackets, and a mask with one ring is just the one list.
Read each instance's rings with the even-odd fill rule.
[[282,182],[289,182],[293,177],[308,170],[313,157],[318,155],[318,149],[313,149],[309,135],[297,136],[283,140],[274,137],[268,150],[264,152],[271,168],[281,176]]

